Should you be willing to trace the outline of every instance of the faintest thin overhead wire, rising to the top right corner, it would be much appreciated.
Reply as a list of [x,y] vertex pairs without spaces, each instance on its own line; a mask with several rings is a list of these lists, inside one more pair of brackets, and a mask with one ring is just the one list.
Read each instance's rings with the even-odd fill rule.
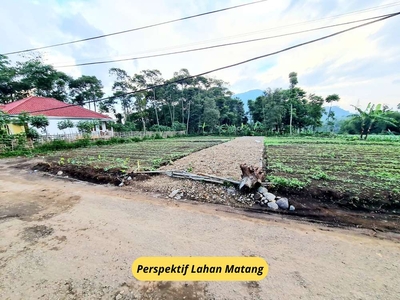
[[[179,49],[179,48],[184,48],[184,47],[189,47],[189,46],[197,46],[197,45],[207,44],[207,43],[211,43],[211,42],[220,42],[220,41],[223,41],[223,40],[231,40],[231,39],[238,38],[238,37],[256,35],[256,34],[261,34],[261,33],[269,32],[269,31],[277,31],[277,30],[284,29],[284,28],[289,28],[289,27],[299,27],[299,26],[302,26],[302,25],[310,24],[310,23],[315,23],[315,22],[328,20],[328,19],[336,19],[336,18],[348,16],[348,15],[365,14],[365,13],[368,13],[368,12],[371,12],[371,11],[381,10],[381,9],[385,9],[385,8],[389,8],[389,7],[393,7],[393,6],[398,6],[398,5],[400,5],[400,1],[392,2],[392,3],[388,3],[388,4],[384,4],[384,5],[379,5],[379,6],[373,6],[373,7],[369,7],[369,8],[365,8],[365,9],[361,9],[361,10],[355,10],[355,11],[351,11],[351,12],[347,12],[347,13],[343,13],[343,14],[339,14],[339,15],[327,16],[327,17],[323,17],[323,18],[319,18],[319,19],[310,20],[310,21],[303,21],[303,22],[292,23],[292,24],[287,24],[287,25],[283,25],[283,26],[270,27],[270,28],[256,30],[256,31],[252,31],[252,32],[241,33],[241,34],[236,34],[236,35],[231,35],[231,36],[226,36],[226,37],[219,37],[219,38],[203,40],[203,41],[198,41],[198,42],[193,42],[193,43],[187,43],[187,44],[178,45],[178,46],[151,49],[151,50],[137,52],[136,54],[122,54],[122,55],[119,55],[119,56],[140,55],[141,53],[149,54],[149,53],[160,52],[160,51],[165,51],[165,50],[174,50],[174,49]],[[104,56],[103,57],[97,57],[97,58],[94,58],[94,59],[106,60],[107,56],[106,57],[104,57]],[[76,63],[80,63],[80,62],[77,61]],[[59,64],[68,64],[68,62],[65,62],[65,63],[64,62],[60,62]]]

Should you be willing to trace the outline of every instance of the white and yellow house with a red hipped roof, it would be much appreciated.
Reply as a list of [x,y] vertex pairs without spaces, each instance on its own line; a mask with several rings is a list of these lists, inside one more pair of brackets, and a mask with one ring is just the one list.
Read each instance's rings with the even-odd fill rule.
[[[9,114],[11,117],[16,117],[22,112],[27,112],[32,116],[44,115],[49,120],[49,126],[46,132],[49,135],[64,134],[58,129],[58,123],[64,120],[71,120],[74,125],[79,121],[99,121],[100,126],[96,126],[94,131],[107,131],[107,123],[113,119],[107,115],[91,111],[78,105],[68,104],[54,98],[44,97],[28,97],[5,105],[0,105],[0,110]],[[22,126],[9,124],[9,132],[16,134],[23,132]],[[68,133],[78,133],[76,127],[68,130]]]

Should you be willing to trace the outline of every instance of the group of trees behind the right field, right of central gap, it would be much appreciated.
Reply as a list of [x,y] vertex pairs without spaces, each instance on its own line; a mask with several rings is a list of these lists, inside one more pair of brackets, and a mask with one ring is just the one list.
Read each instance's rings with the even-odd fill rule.
[[[365,109],[353,106],[356,113],[339,121],[332,111],[332,104],[340,101],[339,95],[331,94],[323,98],[307,94],[297,85],[297,73],[291,72],[287,89],[268,88],[262,96],[249,101],[251,118],[262,124],[264,132],[284,134],[291,131],[328,131],[359,134],[360,139],[367,139],[369,134],[400,134],[400,112],[387,105],[369,103]],[[397,109],[400,110],[400,104]],[[322,124],[324,114],[327,118],[326,123]],[[337,125],[339,129],[334,130]]]

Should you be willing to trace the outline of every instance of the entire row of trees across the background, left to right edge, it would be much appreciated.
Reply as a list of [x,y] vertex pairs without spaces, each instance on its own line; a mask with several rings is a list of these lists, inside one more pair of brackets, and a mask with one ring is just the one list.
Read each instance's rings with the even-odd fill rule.
[[[334,131],[337,120],[331,110],[340,101],[337,94],[325,98],[307,93],[298,86],[296,72],[289,74],[288,88],[267,88],[249,100],[246,114],[243,102],[235,98],[220,79],[192,77],[180,69],[169,79],[159,70],[129,74],[111,68],[112,95],[105,100],[103,84],[96,76],[73,78],[43,62],[40,55],[13,64],[0,56],[0,104],[35,95],[114,114],[116,131],[185,130],[188,133],[288,134],[321,131],[325,125]],[[324,108],[327,105],[327,109]],[[121,112],[117,109],[120,108]],[[340,132],[398,132],[399,116],[387,107],[371,105],[340,123]],[[322,116],[326,114],[326,124]],[[373,120],[371,122],[371,120]]]

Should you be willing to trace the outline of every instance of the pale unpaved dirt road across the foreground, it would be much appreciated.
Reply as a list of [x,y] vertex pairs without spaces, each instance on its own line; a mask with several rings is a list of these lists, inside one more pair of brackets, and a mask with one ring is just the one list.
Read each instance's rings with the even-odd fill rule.
[[[0,160],[0,299],[399,299],[395,240],[230,212]],[[268,276],[185,284],[131,274],[141,256],[243,255],[263,257]]]

